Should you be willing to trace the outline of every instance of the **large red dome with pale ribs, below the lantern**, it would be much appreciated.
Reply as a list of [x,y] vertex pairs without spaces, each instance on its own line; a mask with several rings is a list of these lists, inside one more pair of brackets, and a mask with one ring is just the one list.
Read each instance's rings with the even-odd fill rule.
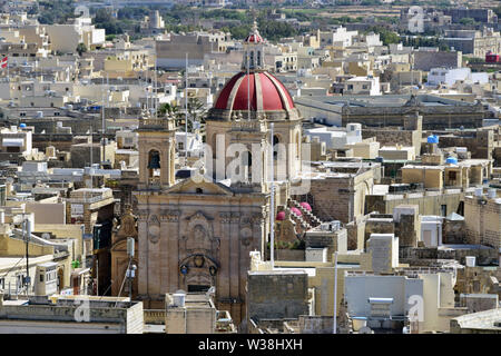
[[[248,77],[250,82],[248,83]],[[249,95],[247,93],[249,88]],[[257,88],[257,90],[256,90]],[[291,110],[294,101],[284,85],[268,72],[234,76],[219,92],[214,108],[223,110]]]

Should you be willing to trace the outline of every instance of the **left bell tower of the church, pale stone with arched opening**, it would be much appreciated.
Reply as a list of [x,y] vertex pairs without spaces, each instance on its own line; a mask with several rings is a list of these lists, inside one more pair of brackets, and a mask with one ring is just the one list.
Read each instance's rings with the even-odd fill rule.
[[168,188],[175,182],[176,138],[171,119],[139,119],[139,182],[141,190]]

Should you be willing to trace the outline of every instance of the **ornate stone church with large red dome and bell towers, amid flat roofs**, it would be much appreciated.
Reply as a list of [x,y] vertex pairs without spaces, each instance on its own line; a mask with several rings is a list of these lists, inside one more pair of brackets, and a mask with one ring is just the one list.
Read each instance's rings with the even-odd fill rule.
[[[214,286],[217,308],[237,324],[245,319],[249,253],[265,256],[269,241],[271,164],[285,177],[275,184],[275,206],[286,204],[302,170],[301,115],[284,85],[264,69],[263,47],[254,27],[242,72],[220,90],[206,119],[213,159],[205,159],[213,169],[200,170],[200,179],[176,179],[173,120],[140,120],[137,294],[145,308],[164,308],[166,293]],[[235,144],[248,152],[228,155]],[[285,148],[272,155],[271,144]],[[230,174],[235,159],[242,159],[236,170],[245,179]]]

